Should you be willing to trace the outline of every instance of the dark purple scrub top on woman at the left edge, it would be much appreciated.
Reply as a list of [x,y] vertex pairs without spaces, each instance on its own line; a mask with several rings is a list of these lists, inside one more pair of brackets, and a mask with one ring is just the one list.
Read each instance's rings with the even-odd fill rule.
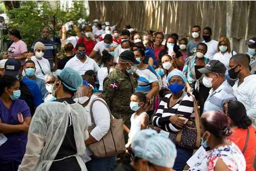
[[[19,99],[14,100],[8,109],[0,100],[0,118],[2,123],[10,125],[20,124],[17,116],[18,113],[22,113],[24,119],[31,117],[29,107],[25,101]],[[16,159],[21,162],[26,151],[27,134],[9,133],[4,135],[8,140],[0,146],[0,160]]]

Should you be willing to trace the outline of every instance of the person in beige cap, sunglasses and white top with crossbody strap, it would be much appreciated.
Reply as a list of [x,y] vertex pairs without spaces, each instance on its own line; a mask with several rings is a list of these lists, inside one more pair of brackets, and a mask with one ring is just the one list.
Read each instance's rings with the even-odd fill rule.
[[45,55],[46,47],[41,42],[36,42],[34,47],[35,56],[31,57],[31,60],[35,63],[35,76],[39,79],[45,79],[45,75],[47,75],[50,71],[50,63],[43,56]]

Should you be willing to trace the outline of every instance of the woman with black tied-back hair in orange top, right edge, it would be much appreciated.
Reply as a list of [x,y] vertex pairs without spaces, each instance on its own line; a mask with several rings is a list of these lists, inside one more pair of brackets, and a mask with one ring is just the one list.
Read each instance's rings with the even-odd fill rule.
[[230,118],[230,126],[233,131],[228,139],[237,144],[243,153],[246,161],[246,170],[254,171],[255,129],[251,125],[251,119],[246,115],[244,105],[241,102],[230,100],[224,103],[223,110]]

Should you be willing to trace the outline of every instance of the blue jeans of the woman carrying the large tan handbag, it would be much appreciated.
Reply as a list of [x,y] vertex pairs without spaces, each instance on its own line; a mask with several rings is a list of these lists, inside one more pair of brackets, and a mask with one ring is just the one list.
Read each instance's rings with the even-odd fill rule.
[[115,156],[94,158],[90,156],[92,160],[86,162],[88,171],[114,171],[115,169]]

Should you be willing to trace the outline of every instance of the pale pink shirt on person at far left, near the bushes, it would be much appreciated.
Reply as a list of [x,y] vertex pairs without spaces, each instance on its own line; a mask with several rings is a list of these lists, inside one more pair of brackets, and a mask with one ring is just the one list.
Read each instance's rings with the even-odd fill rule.
[[[10,58],[21,57],[22,53],[24,52],[28,52],[28,48],[27,48],[27,44],[22,40],[13,42],[8,48],[8,55]],[[25,60],[22,60],[21,62],[22,64],[24,64]]]

